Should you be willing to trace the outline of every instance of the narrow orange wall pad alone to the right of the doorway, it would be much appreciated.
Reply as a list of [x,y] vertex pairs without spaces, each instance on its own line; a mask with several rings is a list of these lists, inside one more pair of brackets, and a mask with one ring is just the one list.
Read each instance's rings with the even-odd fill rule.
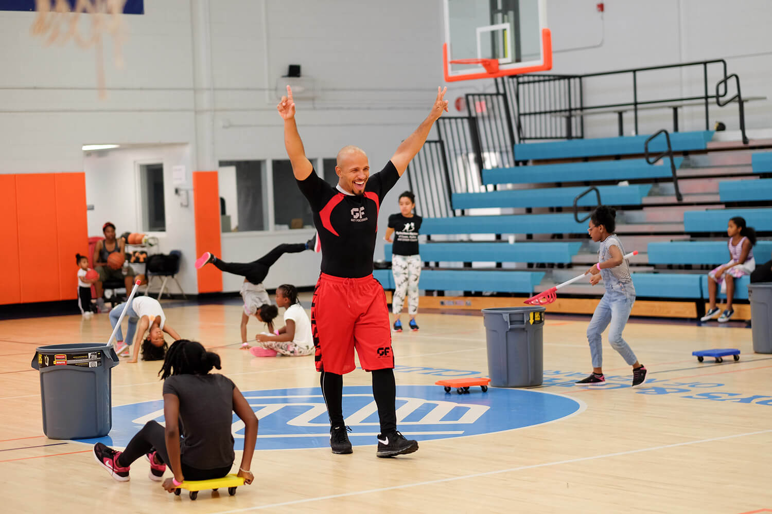
[[[216,171],[193,172],[196,257],[206,251],[220,254],[220,196]],[[222,291],[222,271],[214,266],[198,270],[198,292]]]

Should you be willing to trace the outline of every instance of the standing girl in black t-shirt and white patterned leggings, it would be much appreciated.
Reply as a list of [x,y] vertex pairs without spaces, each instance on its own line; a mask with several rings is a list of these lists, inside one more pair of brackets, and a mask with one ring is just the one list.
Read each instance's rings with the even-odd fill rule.
[[[391,312],[394,313],[394,331],[402,331],[399,314],[408,294],[410,329],[418,331],[415,314],[418,314],[418,278],[421,277],[421,256],[418,254],[418,230],[422,217],[413,213],[415,195],[405,191],[399,195],[399,213],[388,217],[388,228],[384,239],[391,247],[391,273],[394,274],[394,297],[391,298]],[[394,234],[394,239],[391,239]]]

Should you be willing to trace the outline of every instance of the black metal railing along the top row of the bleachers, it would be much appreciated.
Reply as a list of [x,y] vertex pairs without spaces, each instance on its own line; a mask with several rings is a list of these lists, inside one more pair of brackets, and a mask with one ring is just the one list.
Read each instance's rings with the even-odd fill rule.
[[[708,69],[709,66],[719,67],[720,81],[716,84],[716,94],[709,94]],[[713,68],[716,68],[713,66]],[[703,76],[703,94],[682,95],[669,98],[654,98],[642,100],[639,98],[638,82],[642,76],[651,79],[649,72],[664,69],[701,69]],[[711,68],[711,69],[713,69]],[[629,75],[631,79],[631,99],[623,102],[604,103],[599,105],[585,105],[583,89],[587,87],[587,80],[598,77]],[[611,72],[584,73],[576,76],[565,75],[516,75],[506,77],[503,89],[512,105],[512,116],[516,137],[519,142],[529,139],[572,139],[584,137],[584,115],[591,112],[621,113],[631,111],[633,113],[635,133],[638,132],[638,115],[641,109],[673,109],[674,104],[692,102],[689,105],[704,104],[705,129],[709,130],[709,103],[716,99],[719,106],[726,105],[733,99],[721,102],[726,96],[726,82],[732,78],[726,72],[724,59],[708,61],[681,62],[663,66],[648,66],[645,68],[619,69]],[[740,79],[736,78],[738,96],[740,91]],[[723,86],[723,92],[720,91]],[[699,101],[699,102],[698,102]],[[740,126],[745,126],[742,102],[740,103]],[[674,118],[677,127],[677,112]],[[677,128],[676,128],[677,130]]]

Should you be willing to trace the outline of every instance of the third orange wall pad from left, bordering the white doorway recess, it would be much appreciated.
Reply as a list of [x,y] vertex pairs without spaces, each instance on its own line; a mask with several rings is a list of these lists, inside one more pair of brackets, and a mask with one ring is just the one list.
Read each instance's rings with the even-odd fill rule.
[[78,293],[75,254],[88,249],[86,174],[53,173],[56,181],[56,234],[59,239],[59,300],[74,300]]

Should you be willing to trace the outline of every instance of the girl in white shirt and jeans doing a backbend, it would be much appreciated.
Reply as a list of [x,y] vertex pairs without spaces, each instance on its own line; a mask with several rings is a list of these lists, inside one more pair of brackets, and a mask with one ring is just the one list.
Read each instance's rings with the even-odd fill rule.
[[[126,302],[118,304],[110,311],[110,324],[113,328],[115,328],[115,325],[118,323],[120,313],[124,310],[124,306],[126,305]],[[142,347],[142,358],[146,361],[164,358],[164,353],[167,348],[166,341],[164,341],[164,332],[171,335],[175,341],[180,338],[180,334],[166,323],[166,315],[164,314],[164,309],[161,308],[161,304],[159,304],[156,299],[149,296],[134,298],[127,307],[126,317],[129,320],[129,326],[126,331],[126,342],[124,344],[124,335],[121,333],[120,328],[118,328],[118,331],[115,334],[115,351],[117,351],[119,355],[128,355],[129,348],[132,346],[132,343],[135,342],[134,354],[127,362],[137,362],[140,347]],[[139,330],[137,330],[137,328]],[[136,336],[134,335],[135,331]],[[147,338],[144,338],[145,331],[148,332]]]

